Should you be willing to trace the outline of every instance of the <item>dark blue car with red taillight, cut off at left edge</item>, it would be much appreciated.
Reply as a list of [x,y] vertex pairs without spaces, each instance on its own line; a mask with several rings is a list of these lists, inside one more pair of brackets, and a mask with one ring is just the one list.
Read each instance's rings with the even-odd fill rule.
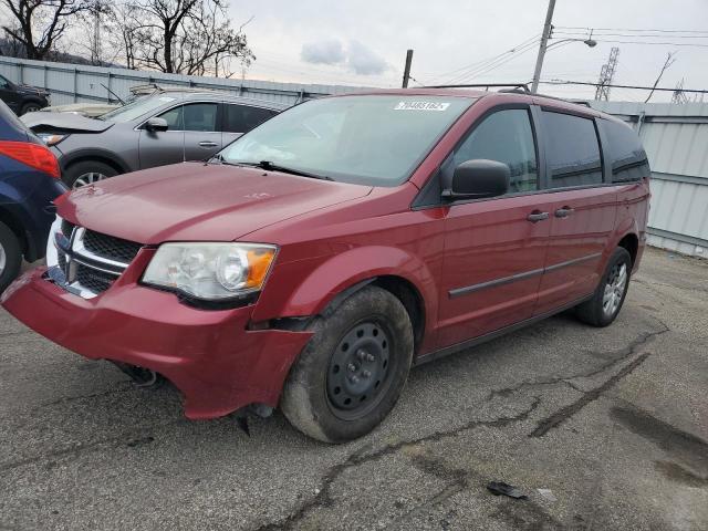
[[0,102],[0,293],[23,257],[44,257],[53,200],[64,191],[54,154]]

